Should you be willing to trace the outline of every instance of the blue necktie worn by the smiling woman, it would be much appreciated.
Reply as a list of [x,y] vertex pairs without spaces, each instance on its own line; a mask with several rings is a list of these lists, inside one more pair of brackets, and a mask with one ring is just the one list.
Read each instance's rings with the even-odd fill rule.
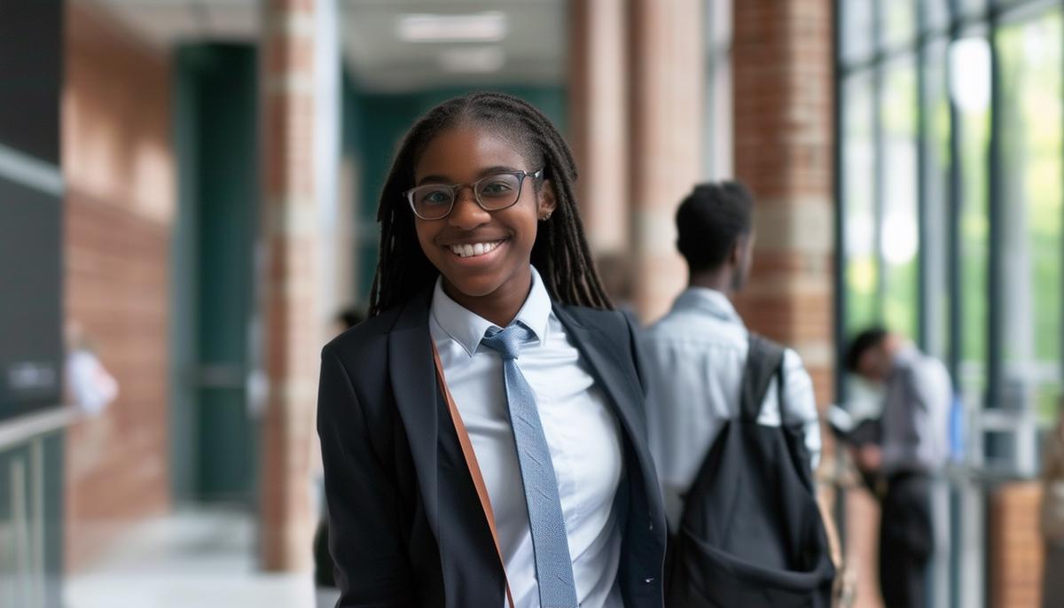
[[572,582],[572,560],[569,558],[562,500],[558,494],[558,478],[554,477],[554,466],[550,460],[550,449],[543,433],[535,395],[517,367],[521,343],[531,338],[532,332],[513,323],[501,331],[489,328],[481,343],[502,356],[510,423],[514,428],[517,461],[521,468],[525,502],[532,528],[539,606],[577,608],[577,587]]

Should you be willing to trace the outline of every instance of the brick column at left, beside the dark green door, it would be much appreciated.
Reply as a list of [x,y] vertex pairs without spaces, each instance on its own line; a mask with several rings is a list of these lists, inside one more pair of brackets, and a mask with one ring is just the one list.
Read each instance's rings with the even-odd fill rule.
[[320,0],[265,3],[262,45],[263,239],[269,398],[260,457],[261,560],[310,564],[310,470],[318,349],[319,184],[315,180],[315,22]]

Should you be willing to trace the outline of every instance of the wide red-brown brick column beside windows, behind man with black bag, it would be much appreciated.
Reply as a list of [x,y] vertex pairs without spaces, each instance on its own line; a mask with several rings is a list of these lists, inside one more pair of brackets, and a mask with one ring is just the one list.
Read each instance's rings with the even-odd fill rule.
[[795,348],[833,399],[830,0],[734,3],[735,174],[758,199],[748,324]]

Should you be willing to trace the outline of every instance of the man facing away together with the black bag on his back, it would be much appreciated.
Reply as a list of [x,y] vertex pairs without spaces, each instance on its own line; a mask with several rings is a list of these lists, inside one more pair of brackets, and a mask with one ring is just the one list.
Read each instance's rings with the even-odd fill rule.
[[729,301],[750,272],[752,210],[737,182],[683,200],[688,287],[642,339],[670,607],[830,605],[813,383],[797,353],[747,331]]

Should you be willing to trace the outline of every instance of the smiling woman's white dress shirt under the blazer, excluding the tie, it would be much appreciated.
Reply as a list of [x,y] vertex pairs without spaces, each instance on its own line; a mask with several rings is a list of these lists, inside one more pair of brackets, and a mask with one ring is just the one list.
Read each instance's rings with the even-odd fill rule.
[[[622,608],[617,586],[621,533],[614,508],[622,467],[620,427],[580,352],[566,338],[534,268],[532,289],[515,322],[535,335],[522,347],[517,365],[535,392],[550,447],[577,599],[584,608]],[[437,281],[429,326],[492,499],[514,603],[516,608],[536,608],[539,591],[532,534],[502,359],[480,345],[484,333],[496,325],[451,300]]]

